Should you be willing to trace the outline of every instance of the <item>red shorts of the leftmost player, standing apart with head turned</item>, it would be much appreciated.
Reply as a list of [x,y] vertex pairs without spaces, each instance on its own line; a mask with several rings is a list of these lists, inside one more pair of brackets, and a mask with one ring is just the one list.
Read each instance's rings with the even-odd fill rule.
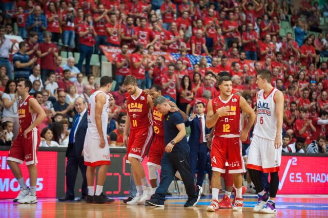
[[36,154],[39,145],[40,133],[36,128],[31,130],[26,138],[19,134],[12,143],[7,160],[20,164],[25,161],[26,165],[37,164]]

